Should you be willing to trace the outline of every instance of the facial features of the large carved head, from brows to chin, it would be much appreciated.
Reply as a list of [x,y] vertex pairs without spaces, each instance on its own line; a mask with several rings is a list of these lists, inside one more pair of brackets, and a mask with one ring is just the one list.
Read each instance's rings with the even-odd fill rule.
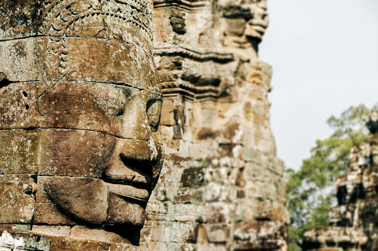
[[163,164],[155,137],[161,103],[159,95],[112,84],[67,82],[45,91],[38,109],[50,129],[39,130],[40,189],[74,222],[142,228]]

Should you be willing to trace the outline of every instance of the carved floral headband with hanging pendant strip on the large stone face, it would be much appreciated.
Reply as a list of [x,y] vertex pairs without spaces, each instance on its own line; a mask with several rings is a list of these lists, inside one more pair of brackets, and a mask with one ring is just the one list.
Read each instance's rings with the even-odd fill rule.
[[88,28],[110,23],[132,29],[152,43],[152,6],[145,0],[45,0],[45,4],[38,34],[50,36],[45,62],[57,77],[71,67],[64,37],[80,37]]

